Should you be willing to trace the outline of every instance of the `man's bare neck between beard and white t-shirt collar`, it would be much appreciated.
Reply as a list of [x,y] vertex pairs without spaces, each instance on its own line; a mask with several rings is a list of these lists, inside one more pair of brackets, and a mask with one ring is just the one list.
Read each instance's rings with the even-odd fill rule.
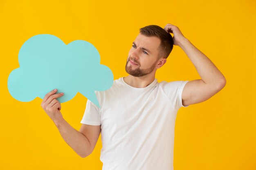
[[145,88],[149,84],[151,84],[155,80],[155,74],[154,75],[145,75],[142,77],[134,77],[132,75],[128,75],[127,77],[124,77],[124,82],[129,84],[132,87],[135,88]]

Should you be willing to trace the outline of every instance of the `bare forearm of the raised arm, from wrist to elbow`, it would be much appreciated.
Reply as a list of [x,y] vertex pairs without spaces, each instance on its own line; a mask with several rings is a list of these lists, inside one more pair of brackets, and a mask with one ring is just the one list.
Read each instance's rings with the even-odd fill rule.
[[180,42],[180,47],[189,57],[201,79],[206,84],[218,86],[226,83],[224,75],[222,75],[213,62],[211,62],[211,60],[198,50],[188,39],[183,38]]

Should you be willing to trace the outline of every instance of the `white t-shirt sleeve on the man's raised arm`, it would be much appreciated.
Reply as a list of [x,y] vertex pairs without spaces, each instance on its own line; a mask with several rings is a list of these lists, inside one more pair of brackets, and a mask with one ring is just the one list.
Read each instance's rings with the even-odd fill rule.
[[161,86],[166,93],[167,97],[170,99],[173,106],[177,109],[181,107],[188,107],[189,105],[182,105],[182,91],[187,81],[173,81],[173,82],[161,82]]

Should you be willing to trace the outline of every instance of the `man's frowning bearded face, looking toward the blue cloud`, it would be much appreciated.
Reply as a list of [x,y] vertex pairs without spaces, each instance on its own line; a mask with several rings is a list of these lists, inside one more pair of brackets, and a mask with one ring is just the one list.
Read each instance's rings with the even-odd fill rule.
[[126,61],[126,72],[135,77],[152,73],[158,62],[160,39],[147,37],[139,33],[129,51]]

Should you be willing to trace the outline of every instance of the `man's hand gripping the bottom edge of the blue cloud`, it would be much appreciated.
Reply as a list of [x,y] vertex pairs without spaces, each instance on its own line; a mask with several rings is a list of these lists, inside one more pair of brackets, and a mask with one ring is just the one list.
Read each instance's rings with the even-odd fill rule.
[[[55,90],[55,91],[54,91]],[[43,102],[41,103],[42,108],[45,110],[47,115],[55,122],[62,118],[61,104],[56,98],[63,96],[63,93],[56,93],[57,89],[54,89],[45,95]],[[56,93],[56,94],[55,94]]]

